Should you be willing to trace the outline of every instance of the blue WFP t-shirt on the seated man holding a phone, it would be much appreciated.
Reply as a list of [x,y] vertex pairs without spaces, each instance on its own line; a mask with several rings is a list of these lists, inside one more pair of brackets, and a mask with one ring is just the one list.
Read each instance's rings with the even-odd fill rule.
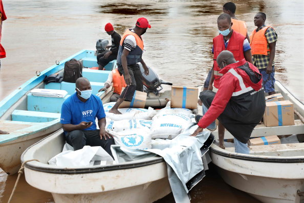
[[60,123],[78,125],[81,121],[93,122],[90,128],[84,130],[96,130],[96,117],[98,120],[105,117],[101,99],[92,94],[82,102],[75,92],[62,104]]

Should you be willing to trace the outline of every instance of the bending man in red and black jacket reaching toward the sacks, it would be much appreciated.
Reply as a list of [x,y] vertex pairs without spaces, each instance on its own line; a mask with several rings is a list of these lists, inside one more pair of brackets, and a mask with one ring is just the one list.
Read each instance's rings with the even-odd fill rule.
[[[218,118],[234,136],[235,152],[249,154],[247,141],[254,127],[262,119],[265,111],[265,96],[262,88],[262,75],[251,63],[242,59],[236,62],[230,51],[222,51],[216,58],[223,76],[218,92],[205,90],[200,98],[208,108],[199,120],[198,128],[192,136]],[[219,133],[219,146],[225,149],[224,133]]]

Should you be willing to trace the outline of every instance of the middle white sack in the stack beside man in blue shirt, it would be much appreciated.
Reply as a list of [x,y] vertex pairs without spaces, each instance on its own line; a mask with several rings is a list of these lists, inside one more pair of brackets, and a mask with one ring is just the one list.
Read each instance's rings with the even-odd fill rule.
[[150,131],[152,120],[130,119],[130,120],[111,120],[107,121],[105,130],[121,132],[124,130],[144,129]]

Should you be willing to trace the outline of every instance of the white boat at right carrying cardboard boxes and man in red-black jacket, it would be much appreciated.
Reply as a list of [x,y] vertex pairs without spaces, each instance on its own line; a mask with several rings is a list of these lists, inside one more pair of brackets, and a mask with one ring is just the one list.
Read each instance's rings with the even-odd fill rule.
[[[303,103],[277,81],[275,90],[304,115]],[[265,127],[260,124],[251,137],[302,133],[304,124],[295,116],[293,126]],[[217,137],[217,132],[214,135]],[[232,135],[226,132],[225,138],[232,138]],[[304,143],[251,146],[249,155],[212,144],[210,156],[227,184],[262,202],[304,202]]]

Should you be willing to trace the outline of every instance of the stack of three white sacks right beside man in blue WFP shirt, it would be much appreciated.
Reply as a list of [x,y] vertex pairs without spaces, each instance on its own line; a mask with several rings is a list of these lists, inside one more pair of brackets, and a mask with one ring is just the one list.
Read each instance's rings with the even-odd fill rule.
[[151,149],[150,128],[156,115],[153,108],[122,108],[122,114],[109,113],[115,102],[103,105],[106,114],[105,130],[113,135],[115,144],[128,149]]

